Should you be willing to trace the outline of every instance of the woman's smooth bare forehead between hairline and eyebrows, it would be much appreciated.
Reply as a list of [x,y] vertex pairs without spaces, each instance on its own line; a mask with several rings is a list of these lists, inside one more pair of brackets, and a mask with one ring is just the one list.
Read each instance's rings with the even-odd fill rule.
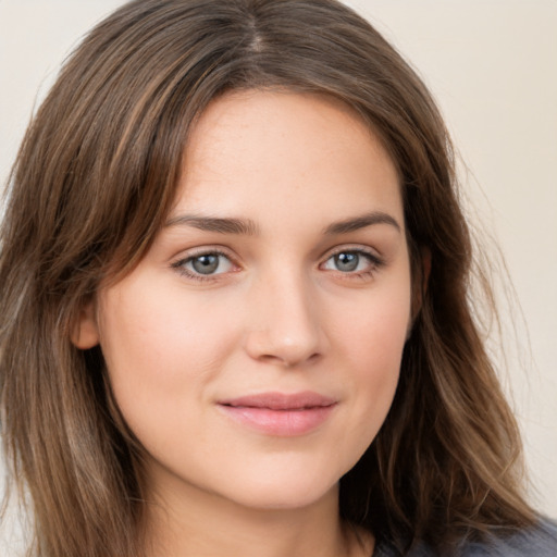
[[320,211],[338,219],[363,205],[403,220],[396,168],[381,141],[351,109],[325,96],[225,95],[196,123],[184,161],[171,218],[223,211],[286,222],[306,208],[307,219]]

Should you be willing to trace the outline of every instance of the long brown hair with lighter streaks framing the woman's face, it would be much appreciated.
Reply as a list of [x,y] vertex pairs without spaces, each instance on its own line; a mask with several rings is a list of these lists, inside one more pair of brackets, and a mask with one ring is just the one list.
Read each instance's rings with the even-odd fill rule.
[[2,434],[37,555],[140,555],[140,447],[100,349],[78,350],[71,332],[99,283],[149,248],[205,107],[273,87],[341,99],[400,175],[416,320],[388,417],[341,480],[342,517],[437,547],[533,520],[517,425],[473,317],[450,141],[421,81],[334,0],[136,0],[85,38],[38,110],[1,230]]

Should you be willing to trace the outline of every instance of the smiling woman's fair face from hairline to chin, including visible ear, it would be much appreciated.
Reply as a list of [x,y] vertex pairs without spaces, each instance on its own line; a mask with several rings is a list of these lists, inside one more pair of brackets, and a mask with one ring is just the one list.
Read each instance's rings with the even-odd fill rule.
[[213,101],[165,226],[76,338],[100,343],[153,493],[258,508],[336,493],[395,393],[404,227],[393,162],[341,103]]

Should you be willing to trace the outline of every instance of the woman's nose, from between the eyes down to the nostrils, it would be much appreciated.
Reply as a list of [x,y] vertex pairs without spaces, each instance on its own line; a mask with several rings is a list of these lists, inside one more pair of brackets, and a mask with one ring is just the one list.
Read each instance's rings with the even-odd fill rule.
[[275,275],[260,281],[250,298],[246,351],[251,358],[296,367],[323,355],[319,305],[304,277]]

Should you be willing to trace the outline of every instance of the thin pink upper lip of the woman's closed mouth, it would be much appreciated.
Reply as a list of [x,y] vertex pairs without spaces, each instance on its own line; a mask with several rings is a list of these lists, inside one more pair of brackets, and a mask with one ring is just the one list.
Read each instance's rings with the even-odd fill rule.
[[302,393],[260,393],[219,400],[222,406],[236,408],[268,408],[269,410],[302,410],[305,408],[326,407],[337,400],[310,391]]

